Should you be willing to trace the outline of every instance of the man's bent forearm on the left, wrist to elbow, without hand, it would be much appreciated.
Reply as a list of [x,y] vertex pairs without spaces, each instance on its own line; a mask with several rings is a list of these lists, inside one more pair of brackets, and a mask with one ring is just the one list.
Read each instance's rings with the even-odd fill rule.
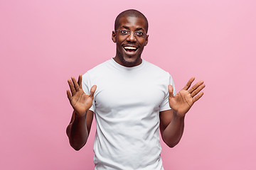
[[73,121],[68,125],[67,135],[71,147],[75,150],[81,149],[87,142],[88,132],[86,125],[86,115],[80,117],[74,112]]

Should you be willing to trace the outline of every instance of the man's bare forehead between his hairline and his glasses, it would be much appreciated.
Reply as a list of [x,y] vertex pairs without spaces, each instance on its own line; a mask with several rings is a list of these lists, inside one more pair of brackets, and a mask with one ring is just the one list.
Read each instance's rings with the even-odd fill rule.
[[142,28],[146,30],[146,21],[142,17],[122,16],[122,18],[119,19],[118,28],[122,28],[124,26],[129,27],[130,29]]

